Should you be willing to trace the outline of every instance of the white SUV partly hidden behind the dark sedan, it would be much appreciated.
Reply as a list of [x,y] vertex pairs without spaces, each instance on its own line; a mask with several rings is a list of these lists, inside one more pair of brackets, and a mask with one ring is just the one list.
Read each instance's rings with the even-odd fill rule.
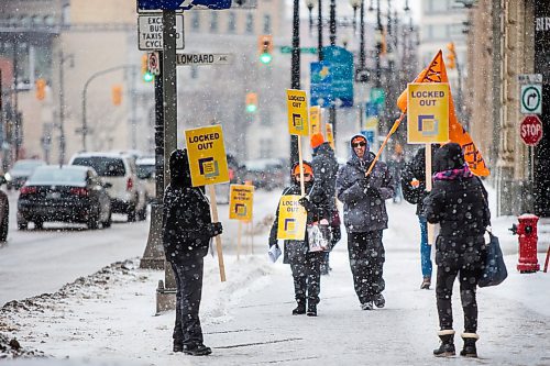
[[92,167],[105,181],[111,184],[107,192],[111,198],[112,212],[128,214],[128,221],[145,220],[145,187],[138,178],[133,157],[118,153],[78,153],[69,164]]

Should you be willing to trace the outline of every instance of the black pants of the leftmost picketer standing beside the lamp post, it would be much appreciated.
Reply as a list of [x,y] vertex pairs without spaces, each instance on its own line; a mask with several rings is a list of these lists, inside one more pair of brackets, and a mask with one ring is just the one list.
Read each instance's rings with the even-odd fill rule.
[[174,325],[174,342],[196,346],[202,344],[199,308],[202,295],[204,259],[186,264],[172,264],[176,278],[176,323]]

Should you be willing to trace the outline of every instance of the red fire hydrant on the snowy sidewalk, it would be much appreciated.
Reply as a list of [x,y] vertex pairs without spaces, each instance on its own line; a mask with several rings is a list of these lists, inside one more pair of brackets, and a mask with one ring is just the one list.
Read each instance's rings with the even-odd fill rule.
[[518,234],[519,241],[519,260],[517,270],[519,273],[532,273],[540,269],[537,258],[537,222],[539,217],[530,213],[524,213],[518,218],[519,225],[512,225],[512,233]]

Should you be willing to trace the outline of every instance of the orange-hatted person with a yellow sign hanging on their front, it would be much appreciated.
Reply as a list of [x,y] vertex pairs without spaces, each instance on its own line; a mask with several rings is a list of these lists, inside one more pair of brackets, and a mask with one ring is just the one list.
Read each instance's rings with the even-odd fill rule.
[[[272,225],[270,248],[278,245],[279,237],[295,237],[284,241],[283,259],[283,263],[289,264],[293,270],[297,302],[293,315],[307,313],[308,317],[317,317],[321,281],[320,264],[323,251],[327,251],[330,245],[328,221],[330,213],[322,209],[322,204],[308,199],[315,181],[311,164],[302,162],[302,174],[306,196],[300,198],[300,166],[295,163],[292,168],[292,184],[283,190]],[[296,214],[286,215],[287,210]],[[298,217],[300,212],[302,212],[302,218],[305,217],[305,225],[300,225]],[[296,236],[287,236],[288,232],[295,233]]]

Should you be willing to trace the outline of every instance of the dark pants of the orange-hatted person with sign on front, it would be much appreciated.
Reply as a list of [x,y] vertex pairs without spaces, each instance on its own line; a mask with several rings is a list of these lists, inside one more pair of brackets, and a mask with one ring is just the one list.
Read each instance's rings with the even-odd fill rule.
[[307,253],[300,258],[305,260],[292,260],[290,269],[294,277],[294,295],[298,303],[309,306],[319,303],[321,291],[321,258],[323,253]]

